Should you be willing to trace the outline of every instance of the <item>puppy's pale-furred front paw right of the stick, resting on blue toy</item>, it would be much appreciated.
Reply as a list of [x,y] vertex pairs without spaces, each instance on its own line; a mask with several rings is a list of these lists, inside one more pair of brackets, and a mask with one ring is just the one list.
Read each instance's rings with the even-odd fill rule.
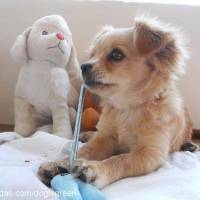
[[100,168],[99,161],[87,161],[78,159],[74,162],[72,173],[75,177],[79,177],[81,180],[91,183],[97,188],[103,188],[108,182],[104,170]]

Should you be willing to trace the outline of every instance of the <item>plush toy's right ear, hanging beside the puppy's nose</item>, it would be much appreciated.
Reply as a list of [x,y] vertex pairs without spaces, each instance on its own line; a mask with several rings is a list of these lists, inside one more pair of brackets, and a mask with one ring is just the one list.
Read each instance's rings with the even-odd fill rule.
[[82,82],[81,81],[82,80],[81,69],[80,69],[80,65],[78,62],[76,49],[75,49],[75,46],[73,43],[72,43],[72,47],[71,47],[69,61],[66,65],[66,70],[69,74],[69,78],[70,78],[72,85],[76,88],[77,91],[79,91],[80,85]]

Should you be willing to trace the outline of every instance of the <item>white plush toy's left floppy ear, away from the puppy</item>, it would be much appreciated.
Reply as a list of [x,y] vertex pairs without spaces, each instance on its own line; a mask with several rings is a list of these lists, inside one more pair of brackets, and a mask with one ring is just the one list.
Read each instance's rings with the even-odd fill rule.
[[21,35],[17,37],[11,48],[11,55],[15,62],[22,64],[28,60],[27,39],[32,27],[28,27]]

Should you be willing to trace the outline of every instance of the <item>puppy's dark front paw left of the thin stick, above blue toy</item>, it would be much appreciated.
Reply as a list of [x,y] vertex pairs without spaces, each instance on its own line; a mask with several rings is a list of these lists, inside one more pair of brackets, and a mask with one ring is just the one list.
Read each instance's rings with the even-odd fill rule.
[[51,179],[57,174],[68,173],[67,165],[59,162],[47,162],[42,164],[38,169],[40,180],[47,186],[50,186]]

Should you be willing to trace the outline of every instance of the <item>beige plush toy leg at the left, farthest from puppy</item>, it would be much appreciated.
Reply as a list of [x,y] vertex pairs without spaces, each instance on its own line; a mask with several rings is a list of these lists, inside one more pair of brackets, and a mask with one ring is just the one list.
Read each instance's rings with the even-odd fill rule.
[[22,136],[30,136],[36,131],[37,120],[34,107],[23,98],[15,97],[15,129]]

